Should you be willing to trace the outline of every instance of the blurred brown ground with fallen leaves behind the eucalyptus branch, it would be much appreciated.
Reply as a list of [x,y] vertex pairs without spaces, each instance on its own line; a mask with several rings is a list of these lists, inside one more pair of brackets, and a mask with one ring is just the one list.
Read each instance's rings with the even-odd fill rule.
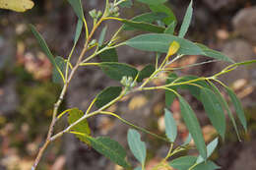
[[[92,9],[103,9],[103,0],[82,0],[86,14]],[[28,27],[33,24],[45,38],[51,51],[58,56],[67,56],[73,45],[76,16],[65,0],[36,0],[32,10],[14,13],[0,10],[0,170],[28,170],[38,147],[44,142],[50,123],[53,103],[61,85],[51,83],[52,66],[41,52]],[[189,4],[188,0],[169,0],[169,7],[177,16],[179,26]],[[123,9],[121,17],[131,19],[148,12],[147,6],[134,4],[133,9]],[[91,21],[90,16],[86,16]],[[92,21],[90,22],[92,26]],[[107,36],[120,25],[108,24]],[[110,25],[109,25],[110,24]],[[104,26],[103,24],[102,26]],[[178,27],[179,27],[178,26]],[[100,31],[96,32],[98,34]],[[122,33],[130,37],[138,32]],[[82,37],[84,34],[82,34]],[[96,36],[97,37],[97,36]],[[96,38],[95,37],[95,38]],[[256,1],[255,0],[195,0],[194,17],[187,38],[202,42],[224,52],[234,61],[256,59]],[[80,54],[84,40],[81,38],[74,58]],[[129,47],[118,49],[121,62],[142,68],[154,62],[154,55]],[[204,62],[201,56],[184,57],[173,66],[186,66]],[[178,71],[179,74],[209,76],[224,68],[224,63],[209,63]],[[256,69],[241,67],[222,77],[241,99],[249,125],[247,134],[242,132],[238,142],[231,123],[227,120],[226,139],[219,145],[212,159],[223,170],[256,169]],[[85,111],[93,97],[107,85],[115,85],[96,68],[80,69],[76,74],[61,110],[79,107]],[[156,81],[154,84],[163,84]],[[216,137],[202,105],[191,95],[183,93],[195,110],[206,142]],[[144,92],[129,95],[109,109],[123,118],[146,129],[164,135],[164,91]],[[178,123],[179,140],[182,143],[188,132],[179,115],[178,101],[170,108]],[[127,147],[126,132],[129,127],[106,116],[90,119],[94,136],[110,136]],[[55,127],[58,132],[67,126],[66,119]],[[148,164],[151,169],[168,151],[164,142],[143,136],[147,141]],[[194,154],[192,152],[191,154]],[[132,156],[129,157],[134,160]],[[72,135],[65,135],[53,142],[44,153],[38,170],[119,170],[93,148],[79,142]]]

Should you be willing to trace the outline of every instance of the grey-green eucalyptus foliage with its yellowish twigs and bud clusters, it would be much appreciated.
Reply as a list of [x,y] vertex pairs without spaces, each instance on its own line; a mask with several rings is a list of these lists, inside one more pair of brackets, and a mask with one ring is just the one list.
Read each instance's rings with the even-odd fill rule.
[[[80,66],[98,66],[102,70],[103,74],[105,74],[109,79],[119,82],[120,85],[108,86],[101,90],[96,95],[95,99],[92,100],[90,107],[85,113],[77,108],[73,108],[68,109],[60,114],[59,117],[57,117],[57,121],[65,113],[69,114],[69,127],[66,130],[62,131],[62,134],[58,134],[57,137],[60,137],[65,133],[75,134],[82,142],[86,142],[87,144],[91,145],[99,153],[108,157],[116,164],[121,165],[124,168],[131,169],[132,167],[126,159],[126,151],[118,142],[112,141],[107,137],[94,138],[91,135],[91,129],[87,122],[88,118],[96,116],[97,114],[105,114],[114,116],[125,124],[137,130],[141,130],[142,132],[147,133],[151,136],[157,137],[158,139],[166,142],[167,144],[170,144],[169,153],[168,155],[166,155],[166,159],[164,160],[167,160],[167,158],[171,157],[168,165],[175,169],[218,169],[220,167],[216,165],[213,161],[210,161],[208,159],[212,155],[213,151],[216,149],[219,138],[216,138],[216,140],[210,142],[206,146],[202,133],[202,128],[200,126],[200,122],[197,119],[196,113],[193,111],[192,106],[185,100],[185,98],[180,95],[180,90],[187,89],[199,102],[202,102],[207,116],[209,117],[214,128],[217,130],[218,134],[223,139],[225,135],[224,112],[226,112],[231,119],[233,127],[239,138],[238,128],[236,126],[236,122],[231,113],[231,110],[220,89],[216,85],[214,85],[213,82],[218,82],[224,86],[230,98],[230,102],[234,105],[238,120],[242,124],[244,130],[247,131],[246,117],[244,115],[241,102],[231,88],[227,87],[219,81],[219,77],[229,71],[232,71],[238,66],[256,63],[256,61],[252,60],[242,63],[234,63],[230,58],[228,58],[221,52],[210,49],[203,44],[195,43],[191,40],[185,39],[184,36],[190,26],[193,16],[192,1],[190,1],[186,14],[184,15],[185,17],[181,24],[181,28],[179,29],[177,35],[175,32],[175,28],[177,25],[176,17],[174,16],[172,10],[168,8],[167,0],[137,1],[139,3],[145,4],[145,6],[147,6],[152,12],[136,16],[131,20],[121,19],[118,17],[120,12],[119,7],[132,7],[133,1],[106,0],[105,12],[102,13],[101,11],[97,11],[96,9],[93,9],[91,12],[89,12],[94,20],[94,28],[92,28],[92,32],[89,32],[88,23],[84,17],[82,1],[68,0],[78,18],[77,28],[74,35],[73,48],[70,54],[67,55],[68,57],[64,56],[55,58],[55,55],[51,53],[48,45],[46,44],[46,41],[43,39],[41,34],[35,29],[35,27],[31,26],[32,33],[37,39],[39,46],[42,48],[42,51],[46,54],[47,58],[53,66],[53,81],[58,83],[64,83],[63,90],[57,104],[55,104],[55,107],[58,107],[58,103],[61,103],[61,101],[63,100],[63,96],[65,96],[65,92],[70,84],[70,81],[72,80],[76,69],[78,69],[78,67]],[[99,37],[94,37],[96,29],[100,26],[101,23],[107,20],[121,22],[123,26],[121,26],[118,31],[114,33],[114,37],[110,39],[106,38],[106,33],[109,30],[107,26],[102,28]],[[77,64],[73,66],[73,62],[70,62],[70,59],[73,56],[73,51],[75,50],[78,40],[81,38],[81,32],[83,28],[86,29],[86,38],[83,39],[85,40],[85,46],[77,61]],[[135,29],[143,30],[142,32],[148,31],[150,33],[141,33],[139,35],[136,35],[135,37],[131,37],[126,40],[122,40],[121,38],[119,38],[119,32]],[[95,39],[92,39],[92,37]],[[173,44],[174,42],[179,46],[179,48],[177,48],[177,51],[175,52],[171,51],[173,50],[171,44]],[[139,71],[135,66],[127,63],[118,62],[119,60],[117,54],[117,47],[122,45],[128,45],[142,51],[157,53],[156,63],[154,65],[153,63],[149,63]],[[90,52],[87,53],[88,51]],[[163,56],[166,53],[171,53],[173,55],[165,56],[165,58],[160,57],[161,55]],[[175,72],[171,71],[171,69],[173,68],[169,68],[172,66],[169,64],[173,63],[175,60],[180,59],[181,57],[186,57],[186,55],[208,56],[217,59],[218,61],[225,61],[233,64],[226,67],[222,72],[208,78],[176,75]],[[98,63],[91,62],[91,59],[93,59],[94,57],[100,58],[100,60],[95,60],[96,62],[98,61]],[[144,57],[149,60],[152,59],[151,56],[148,54]],[[174,68],[173,70],[177,69],[182,68]],[[164,85],[159,85],[159,83],[154,84],[153,86],[149,85],[155,79],[160,78],[160,73],[163,72],[167,72],[168,74],[168,77],[164,78]],[[123,96],[125,96],[126,94],[130,94],[136,91],[155,89],[165,90],[165,105],[167,109],[164,110],[164,124],[166,138],[160,137],[159,135],[154,134],[144,128],[133,125],[132,123],[122,119],[121,114],[117,115],[116,113],[112,113],[109,110],[105,110],[112,104],[120,101],[120,99],[123,98]],[[178,136],[177,123],[175,122],[171,111],[168,110],[169,108],[171,108],[170,106],[173,103],[174,99],[177,99],[179,101],[180,114],[189,132],[189,136],[186,142],[184,142],[180,146],[177,146],[176,148],[174,148],[173,145],[175,146],[174,142],[176,142]],[[96,105],[96,108],[94,107],[94,105]],[[92,111],[93,109],[96,110]],[[58,110],[59,108],[55,108],[54,113],[56,113]],[[55,122],[53,121],[53,124],[54,123]],[[49,134],[51,134],[51,132]],[[54,137],[57,138],[56,136]],[[54,141],[55,138],[47,140]],[[197,148],[199,155],[186,155],[173,159],[172,154],[189,149],[189,142],[191,142],[192,140],[195,143],[195,147]],[[141,135],[134,129],[130,129],[128,131],[127,141],[131,152],[133,153],[135,158],[141,163],[141,166],[137,167],[136,169],[144,170],[147,163],[146,142],[142,142]]]

